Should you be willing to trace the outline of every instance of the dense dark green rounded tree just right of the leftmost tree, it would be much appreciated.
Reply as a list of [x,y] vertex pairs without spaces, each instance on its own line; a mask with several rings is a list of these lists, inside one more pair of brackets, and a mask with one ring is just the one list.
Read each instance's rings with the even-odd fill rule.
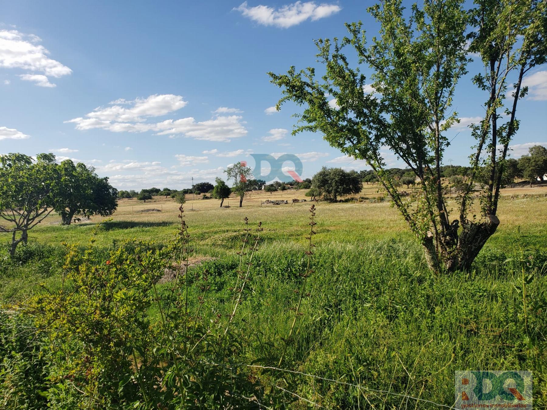
[[54,187],[54,208],[62,224],[70,225],[74,216],[112,215],[118,207],[118,190],[100,178],[95,168],[72,160],[57,166],[59,182]]

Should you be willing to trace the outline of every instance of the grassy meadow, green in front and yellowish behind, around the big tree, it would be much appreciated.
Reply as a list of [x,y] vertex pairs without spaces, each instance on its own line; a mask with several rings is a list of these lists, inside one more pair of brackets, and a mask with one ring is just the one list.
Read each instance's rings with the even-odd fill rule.
[[[268,386],[279,401],[259,405],[250,397],[250,408],[450,407],[457,370],[532,370],[534,406],[542,408],[547,406],[546,193],[504,192],[501,224],[472,270],[446,276],[428,271],[420,246],[397,210],[378,200],[376,186],[365,185],[360,202],[313,202],[316,247],[303,292],[311,202],[290,202],[305,198],[304,191],[253,192],[243,208],[235,198],[225,200],[230,208],[219,208],[216,200],[189,195],[184,204],[193,248],[189,259],[199,263],[188,269],[196,277],[206,271],[210,285],[202,303],[199,289],[190,288],[189,303],[202,305],[205,323],[230,317],[243,218],[251,229],[261,221],[261,240],[231,326],[237,349],[230,366]],[[289,204],[262,203],[268,198]],[[120,200],[117,212],[97,229],[97,252],[107,255],[124,241],[167,242],[177,232],[178,206],[171,198]],[[161,212],[143,212],[149,209]],[[14,260],[2,234],[4,306],[62,286],[61,243],[84,247],[102,219],[61,226],[52,214],[29,232],[29,244]],[[169,291],[170,283],[160,281],[159,294]],[[299,293],[304,297],[287,338]],[[152,323],[160,321],[157,306],[147,314]]]

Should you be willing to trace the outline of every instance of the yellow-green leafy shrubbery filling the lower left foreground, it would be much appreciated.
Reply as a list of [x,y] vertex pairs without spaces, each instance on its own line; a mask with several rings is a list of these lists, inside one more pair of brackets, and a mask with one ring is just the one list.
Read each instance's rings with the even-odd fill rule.
[[[2,407],[220,409],[252,408],[247,397],[278,401],[247,370],[232,368],[241,343],[225,323],[219,330],[220,315],[214,323],[200,317],[208,272],[185,274],[188,241],[182,220],[180,235],[164,246],[127,242],[105,254],[94,239],[83,252],[67,245],[60,286],[44,287],[10,316],[0,311]],[[159,288],[166,269],[177,273]]]

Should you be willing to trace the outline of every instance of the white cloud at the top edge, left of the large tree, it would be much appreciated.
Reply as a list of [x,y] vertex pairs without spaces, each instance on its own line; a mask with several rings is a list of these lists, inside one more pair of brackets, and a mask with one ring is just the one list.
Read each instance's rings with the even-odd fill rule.
[[263,26],[289,28],[306,20],[316,21],[338,13],[342,8],[337,4],[316,4],[315,2],[295,2],[275,9],[267,5],[249,7],[247,2],[241,3],[234,10]]

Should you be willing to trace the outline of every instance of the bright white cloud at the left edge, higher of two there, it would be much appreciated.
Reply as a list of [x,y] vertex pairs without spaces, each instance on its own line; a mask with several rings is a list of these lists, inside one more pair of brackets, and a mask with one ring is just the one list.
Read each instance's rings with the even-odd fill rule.
[[40,87],[54,87],[48,77],[60,78],[71,74],[72,70],[48,57],[50,52],[43,45],[36,44],[40,40],[34,34],[0,30],[0,67],[29,71],[32,74],[25,76],[30,77],[20,76],[22,80],[33,81]]

